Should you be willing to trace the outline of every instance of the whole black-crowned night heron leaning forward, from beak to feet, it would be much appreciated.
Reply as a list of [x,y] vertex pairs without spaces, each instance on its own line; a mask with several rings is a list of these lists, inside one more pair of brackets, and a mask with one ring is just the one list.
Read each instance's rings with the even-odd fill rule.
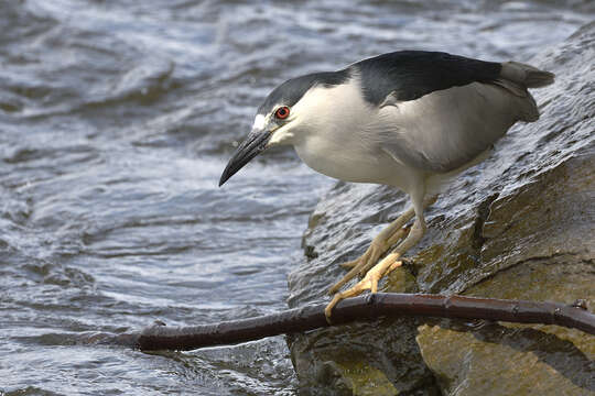
[[[338,301],[367,289],[376,293],[378,280],[402,264],[402,255],[425,232],[423,210],[441,186],[483,161],[515,122],[539,119],[527,88],[550,85],[553,78],[516,62],[422,51],[292,78],[260,106],[219,186],[263,150],[291,144],[322,174],[409,194],[413,207],[382,230],[364,255],[343,264],[350,271],[329,290],[335,294],[325,310],[329,319]],[[339,293],[357,274],[363,279]]]

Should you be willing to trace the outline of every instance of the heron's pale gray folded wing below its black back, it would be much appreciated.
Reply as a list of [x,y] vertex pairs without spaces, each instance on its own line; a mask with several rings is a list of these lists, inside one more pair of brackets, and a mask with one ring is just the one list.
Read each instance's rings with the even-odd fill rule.
[[436,90],[415,100],[389,96],[370,136],[408,166],[454,170],[488,150],[517,121],[539,118],[527,89],[509,80],[472,82]]

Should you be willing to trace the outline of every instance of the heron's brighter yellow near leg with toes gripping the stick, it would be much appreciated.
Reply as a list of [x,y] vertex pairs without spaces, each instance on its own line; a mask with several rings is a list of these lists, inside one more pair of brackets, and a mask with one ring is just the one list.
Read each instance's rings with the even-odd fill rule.
[[414,246],[421,240],[424,233],[425,223],[423,222],[423,220],[420,221],[418,219],[413,224],[413,228],[411,229],[409,235],[394,249],[393,252],[388,254],[385,258],[380,261],[380,263],[376,264],[370,271],[368,271],[366,276],[364,276],[364,278],[359,280],[354,287],[345,292],[335,294],[333,300],[331,300],[331,302],[324,309],[326,320],[331,323],[331,315],[333,308],[340,300],[348,297],[358,296],[365,290],[376,293],[378,290],[378,282],[382,278],[382,276],[388,275],[391,271],[402,265],[402,261],[399,258],[402,256],[402,254],[404,254],[404,252]]

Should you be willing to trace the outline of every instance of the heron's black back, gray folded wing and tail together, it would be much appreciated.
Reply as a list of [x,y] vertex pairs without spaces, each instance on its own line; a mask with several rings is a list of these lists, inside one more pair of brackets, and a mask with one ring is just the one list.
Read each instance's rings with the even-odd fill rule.
[[[405,51],[355,64],[364,96],[379,108],[370,139],[415,168],[454,170],[539,111],[527,88],[553,82],[532,66]],[[388,120],[387,120],[388,119]]]

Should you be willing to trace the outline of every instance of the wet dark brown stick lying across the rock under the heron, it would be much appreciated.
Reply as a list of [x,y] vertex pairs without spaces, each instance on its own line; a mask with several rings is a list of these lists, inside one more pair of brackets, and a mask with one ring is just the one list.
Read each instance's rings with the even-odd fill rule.
[[[313,330],[329,326],[324,316],[324,307],[325,305],[306,306],[257,318],[183,328],[154,324],[142,331],[137,346],[143,351],[187,351]],[[333,309],[333,324],[369,320],[381,316],[424,316],[558,324],[595,334],[595,315],[588,312],[584,304],[580,301],[567,306],[560,302],[387,293],[340,301]]]

